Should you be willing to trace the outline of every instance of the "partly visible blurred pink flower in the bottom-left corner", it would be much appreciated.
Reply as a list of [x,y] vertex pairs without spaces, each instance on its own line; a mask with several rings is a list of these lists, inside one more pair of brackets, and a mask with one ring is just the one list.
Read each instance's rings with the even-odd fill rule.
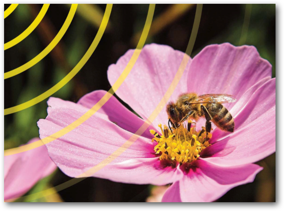
[[[38,140],[34,138],[29,143]],[[45,146],[4,157],[4,201],[23,196],[55,169]]]

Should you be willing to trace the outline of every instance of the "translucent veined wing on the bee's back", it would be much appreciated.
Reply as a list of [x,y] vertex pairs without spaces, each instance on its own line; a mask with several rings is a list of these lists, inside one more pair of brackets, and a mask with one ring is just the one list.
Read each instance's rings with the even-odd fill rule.
[[202,103],[234,103],[237,100],[233,95],[226,94],[208,94],[200,95],[198,99],[190,102],[190,104],[202,104]]

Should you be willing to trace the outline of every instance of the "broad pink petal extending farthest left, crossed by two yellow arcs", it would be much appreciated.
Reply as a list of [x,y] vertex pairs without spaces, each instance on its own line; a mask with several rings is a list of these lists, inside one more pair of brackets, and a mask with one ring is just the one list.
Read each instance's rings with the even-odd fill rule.
[[[58,132],[82,116],[82,113],[83,111],[68,108],[51,111],[46,120],[40,120],[38,122],[40,137],[43,139]],[[110,165],[110,167],[106,167],[106,169],[124,169],[125,163],[121,163],[125,161],[130,167],[133,166],[131,168],[134,169],[138,168],[141,162],[129,160],[150,158],[150,161],[152,161],[151,158],[155,160],[158,159],[154,153],[155,144],[152,143],[151,139],[139,137],[128,149],[122,147],[132,136],[132,133],[123,130],[116,124],[103,119],[101,116],[94,115],[73,131],[46,144],[46,146],[52,160],[66,175],[80,177],[80,175],[83,176],[87,170],[90,170],[103,160],[109,158],[116,150],[119,152],[118,157],[111,164],[118,165],[114,167]],[[148,160],[148,162],[150,161]],[[155,170],[153,166],[151,168]],[[156,174],[160,174],[162,171],[165,170],[157,170]],[[104,175],[104,170],[100,172],[103,174],[103,178],[113,178],[113,180],[118,178],[117,180],[123,180],[123,177],[118,174],[118,170],[115,174],[111,170],[112,173],[110,177],[108,177],[108,173]],[[132,170],[131,173],[132,172],[138,171]],[[131,174],[129,173],[129,175]],[[96,177],[99,177],[99,175]],[[132,183],[136,183],[135,178],[138,178],[138,176],[132,178]],[[145,176],[145,178],[147,178],[147,176]],[[125,179],[127,180],[129,178],[125,177]],[[151,177],[148,177],[147,181],[148,183],[158,182]],[[161,180],[161,182],[165,181]],[[139,179],[137,183],[143,183],[142,178]]]

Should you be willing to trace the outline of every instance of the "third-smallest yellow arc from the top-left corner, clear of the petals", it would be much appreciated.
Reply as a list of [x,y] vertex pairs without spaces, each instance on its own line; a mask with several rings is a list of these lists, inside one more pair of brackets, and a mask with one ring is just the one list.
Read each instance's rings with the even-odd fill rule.
[[[59,43],[59,41],[62,39],[62,37],[66,33],[67,29],[69,28],[69,26],[70,26],[70,24],[71,24],[71,22],[74,18],[77,7],[78,7],[78,4],[72,4],[71,5],[69,14],[68,14],[62,28],[59,30],[58,34],[55,36],[53,41],[51,41],[51,43],[43,51],[41,51],[39,53],[39,55],[34,57],[31,61],[25,63],[24,65],[14,69],[14,70],[11,70],[7,73],[4,73],[4,80],[7,79],[7,78],[11,78],[15,75],[18,75],[20,73],[23,73],[27,69],[33,67],[35,64],[40,62],[44,57],[46,57],[50,53],[50,51],[52,51],[52,49]],[[4,113],[5,113],[5,111],[4,111]]]

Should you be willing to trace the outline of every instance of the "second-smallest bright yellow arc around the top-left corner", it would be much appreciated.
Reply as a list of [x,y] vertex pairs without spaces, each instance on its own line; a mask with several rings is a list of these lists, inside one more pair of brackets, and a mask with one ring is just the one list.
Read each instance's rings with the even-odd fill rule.
[[[30,33],[32,33],[34,31],[34,29],[39,25],[40,21],[45,16],[49,6],[50,6],[50,4],[44,4],[42,6],[41,10],[39,11],[38,16],[34,19],[33,23],[30,24],[29,27],[26,30],[24,30],[24,32],[22,34],[18,35],[13,40],[4,44],[4,51],[15,46],[15,45],[17,45],[19,42],[23,41],[27,36],[29,36]],[[4,76],[4,79],[5,79],[5,76]]]

